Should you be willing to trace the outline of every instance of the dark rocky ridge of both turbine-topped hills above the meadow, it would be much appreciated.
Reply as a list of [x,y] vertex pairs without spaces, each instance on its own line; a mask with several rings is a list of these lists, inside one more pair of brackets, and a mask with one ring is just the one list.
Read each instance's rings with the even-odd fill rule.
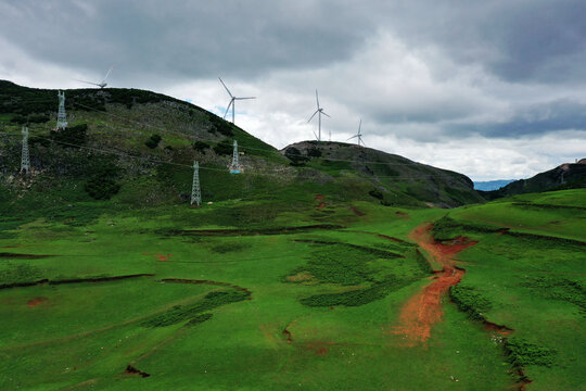
[[[58,91],[0,80],[0,201],[22,207],[107,202],[186,204],[194,161],[204,203],[367,201],[453,207],[482,202],[464,175],[342,142],[278,151],[191,103],[138,89],[65,90],[68,126],[55,130]],[[20,173],[24,125],[30,173]],[[242,174],[231,175],[238,141]]]

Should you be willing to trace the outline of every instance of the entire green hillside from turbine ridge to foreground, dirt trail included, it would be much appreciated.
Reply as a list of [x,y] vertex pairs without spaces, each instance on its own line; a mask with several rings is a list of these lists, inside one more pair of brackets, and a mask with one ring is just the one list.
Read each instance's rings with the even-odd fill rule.
[[461,174],[278,151],[138,90],[66,91],[52,131],[56,91],[0,86],[0,390],[585,383],[586,189],[482,203]]

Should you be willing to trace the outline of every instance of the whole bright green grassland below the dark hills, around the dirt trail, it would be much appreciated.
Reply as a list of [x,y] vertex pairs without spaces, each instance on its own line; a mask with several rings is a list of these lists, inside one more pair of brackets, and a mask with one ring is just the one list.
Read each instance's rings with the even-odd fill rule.
[[[528,390],[583,383],[585,238],[575,228],[584,227],[584,191],[450,211],[436,235],[479,243],[458,254],[467,273],[455,302],[444,298],[442,321],[415,345],[394,330],[431,275],[408,236],[445,210],[328,197],[292,211],[256,202],[13,214],[0,239],[0,389],[506,390],[522,376]],[[253,207],[273,210],[245,213]]]

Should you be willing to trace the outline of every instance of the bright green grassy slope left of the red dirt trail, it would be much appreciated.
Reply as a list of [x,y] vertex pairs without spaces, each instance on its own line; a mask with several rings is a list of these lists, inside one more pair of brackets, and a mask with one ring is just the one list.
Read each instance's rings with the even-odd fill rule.
[[[495,384],[504,389],[513,381],[486,332],[455,306],[446,308],[445,321],[424,346],[403,346],[400,337],[390,333],[400,304],[429,282],[417,272],[409,245],[355,230],[405,239],[412,227],[438,218],[442,211],[407,211],[411,216],[405,219],[395,209],[357,203],[354,206],[366,213],[357,216],[344,204],[324,202],[327,206],[319,211],[313,205],[285,212],[263,225],[306,225],[327,216],[349,231],[213,238],[168,235],[168,229],[208,227],[205,222],[214,219],[204,216],[222,216],[228,204],[221,203],[202,210],[158,209],[156,214],[155,210],[106,214],[82,227],[42,219],[23,226],[17,236],[0,241],[0,247],[15,245],[3,251],[59,256],[1,258],[3,269],[29,265],[50,279],[136,273],[156,277],[1,290],[0,302],[11,316],[0,320],[0,354],[5,358],[0,370],[8,375],[0,388],[286,390],[302,383],[314,390],[402,390],[433,383],[434,389],[448,390],[455,384],[454,376],[463,388],[493,390]],[[221,218],[216,223],[226,224]],[[319,247],[293,239],[398,252],[406,258],[383,262],[386,272],[420,277],[361,306],[306,306],[301,299],[347,288],[283,281],[295,268],[318,260]],[[160,261],[157,254],[168,261]],[[140,321],[153,313],[228,289],[156,282],[173,277],[230,282],[250,289],[253,300],[212,310],[212,319],[194,327],[142,327]],[[38,298],[47,301],[27,306],[27,301]],[[282,335],[285,327],[291,343]],[[151,377],[123,375],[129,364]]]

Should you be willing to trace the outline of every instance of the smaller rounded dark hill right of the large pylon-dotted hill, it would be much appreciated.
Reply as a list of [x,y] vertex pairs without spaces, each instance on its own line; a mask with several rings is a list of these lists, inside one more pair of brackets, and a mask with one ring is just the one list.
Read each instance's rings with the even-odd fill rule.
[[[354,186],[364,181],[383,204],[454,207],[483,202],[466,175],[346,142],[302,141],[281,150],[306,167]],[[297,156],[297,157],[295,157]]]

